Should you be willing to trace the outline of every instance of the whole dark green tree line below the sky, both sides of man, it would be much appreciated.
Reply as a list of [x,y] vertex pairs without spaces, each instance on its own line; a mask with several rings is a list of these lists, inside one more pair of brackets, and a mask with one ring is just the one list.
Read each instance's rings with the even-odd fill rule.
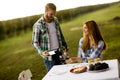
[[[106,8],[117,3],[118,2],[113,2],[60,10],[57,11],[56,16],[60,22],[65,22],[78,15]],[[33,24],[40,18],[40,16],[42,16],[42,14],[0,21],[0,40],[4,40],[13,36],[19,36],[21,33],[26,33],[28,30],[32,29]]]

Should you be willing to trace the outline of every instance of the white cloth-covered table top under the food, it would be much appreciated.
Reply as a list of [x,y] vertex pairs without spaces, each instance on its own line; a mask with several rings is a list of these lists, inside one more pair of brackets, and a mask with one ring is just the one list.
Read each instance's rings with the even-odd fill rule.
[[66,65],[56,65],[44,76],[42,80],[119,80],[118,60],[104,60],[109,64],[110,69],[103,72],[71,73],[70,69],[80,66],[88,66],[89,63],[74,63]]

